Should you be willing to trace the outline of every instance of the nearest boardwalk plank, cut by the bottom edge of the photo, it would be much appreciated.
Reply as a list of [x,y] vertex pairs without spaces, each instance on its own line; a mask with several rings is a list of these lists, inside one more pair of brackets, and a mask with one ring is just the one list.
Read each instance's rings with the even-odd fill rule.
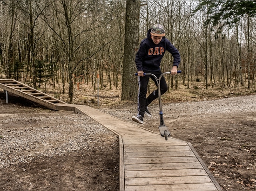
[[212,183],[180,185],[141,185],[125,186],[126,191],[216,191]]

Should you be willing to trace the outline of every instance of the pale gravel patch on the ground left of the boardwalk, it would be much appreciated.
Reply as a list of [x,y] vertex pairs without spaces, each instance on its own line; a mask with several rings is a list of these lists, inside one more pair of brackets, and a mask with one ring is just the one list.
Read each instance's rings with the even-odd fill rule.
[[4,107],[0,109],[0,168],[90,149],[97,143],[94,134],[112,135],[87,115],[45,110],[49,116],[38,109],[24,115],[3,111]]

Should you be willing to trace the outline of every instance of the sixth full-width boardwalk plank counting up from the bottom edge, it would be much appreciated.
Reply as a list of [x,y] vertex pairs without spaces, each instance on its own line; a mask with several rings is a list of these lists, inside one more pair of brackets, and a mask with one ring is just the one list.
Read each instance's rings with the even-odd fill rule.
[[147,158],[147,157],[189,157],[195,156],[190,151],[155,151],[155,152],[136,152],[136,153],[124,153],[125,158]]

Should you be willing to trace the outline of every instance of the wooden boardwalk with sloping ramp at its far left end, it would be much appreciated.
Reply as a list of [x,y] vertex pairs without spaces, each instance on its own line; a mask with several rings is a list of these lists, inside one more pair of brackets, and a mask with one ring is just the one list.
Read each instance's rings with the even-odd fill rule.
[[[5,80],[5,82],[10,80]],[[18,83],[15,81],[15,83]],[[19,85],[21,87],[21,85]],[[51,101],[55,98],[32,97],[35,89],[8,86],[10,91],[55,110],[70,110],[88,115],[119,136],[120,190],[121,191],[217,191],[222,190],[194,147],[175,138],[165,140],[160,134],[148,131],[132,123],[122,121],[97,109],[84,105]],[[18,89],[18,90],[17,90]],[[37,91],[37,90],[35,90]],[[38,92],[34,92],[38,93]],[[41,92],[39,92],[41,94]],[[28,95],[27,95],[28,94]],[[36,95],[36,94],[35,94]],[[41,95],[47,97],[47,95]],[[50,98],[49,98],[50,97]],[[56,99],[55,99],[56,100]]]

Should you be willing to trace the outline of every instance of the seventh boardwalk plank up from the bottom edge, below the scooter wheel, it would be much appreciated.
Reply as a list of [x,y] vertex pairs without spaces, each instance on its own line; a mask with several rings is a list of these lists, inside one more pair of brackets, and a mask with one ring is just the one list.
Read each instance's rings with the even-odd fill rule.
[[191,151],[188,145],[178,146],[125,146],[125,152],[153,152],[153,151]]

